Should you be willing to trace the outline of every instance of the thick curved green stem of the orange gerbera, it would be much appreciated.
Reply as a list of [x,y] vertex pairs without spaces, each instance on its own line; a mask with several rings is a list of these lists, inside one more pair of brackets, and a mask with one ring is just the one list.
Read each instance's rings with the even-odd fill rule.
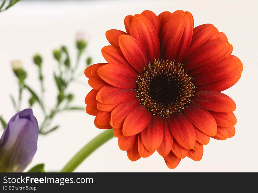
[[106,143],[114,137],[113,129],[108,129],[95,138],[93,138],[89,143],[87,143],[77,154],[72,157],[72,159],[65,165],[60,172],[73,172],[92,152],[94,152],[98,147]]

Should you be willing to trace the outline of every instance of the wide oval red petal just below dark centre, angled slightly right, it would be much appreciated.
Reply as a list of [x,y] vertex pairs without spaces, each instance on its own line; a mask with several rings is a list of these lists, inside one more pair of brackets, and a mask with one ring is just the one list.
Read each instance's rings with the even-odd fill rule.
[[195,130],[193,124],[183,113],[170,116],[169,129],[176,141],[186,149],[192,149],[195,144]]

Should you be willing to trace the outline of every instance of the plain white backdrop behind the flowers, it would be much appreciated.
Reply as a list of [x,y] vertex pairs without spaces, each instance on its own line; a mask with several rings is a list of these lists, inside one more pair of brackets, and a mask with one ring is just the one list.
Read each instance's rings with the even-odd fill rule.
[[[241,2],[241,3],[240,3]],[[236,135],[225,141],[211,139],[204,147],[203,158],[195,162],[189,158],[181,160],[170,170],[161,156],[155,152],[148,158],[136,162],[128,160],[125,151],[113,138],[91,154],[76,172],[258,172],[257,154],[257,1],[21,1],[10,10],[0,13],[0,114],[9,120],[15,113],[9,94],[18,96],[16,78],[10,61],[21,59],[28,71],[26,82],[39,91],[36,67],[32,55],[43,55],[43,73],[46,78],[46,100],[48,107],[54,105],[56,87],[52,71],[57,64],[52,58],[52,49],[67,45],[75,60],[74,46],[77,31],[86,31],[89,36],[88,54],[94,63],[105,62],[101,48],[108,45],[105,32],[108,29],[125,30],[126,15],[141,13],[149,9],[159,14],[162,11],[183,9],[194,17],[194,26],[214,24],[223,31],[233,45],[233,53],[244,64],[240,81],[224,93],[236,103]],[[81,63],[83,67],[84,63]],[[84,98],[91,90],[87,78],[83,84],[69,88],[76,93],[75,105],[84,105]],[[27,106],[23,101],[23,108]],[[34,114],[42,121],[38,106]],[[94,127],[94,116],[84,111],[58,115],[54,124],[61,128],[38,139],[38,151],[29,167],[45,163],[47,171],[58,171],[89,140],[102,130]],[[2,131],[1,131],[2,132]],[[0,132],[0,134],[1,134]]]

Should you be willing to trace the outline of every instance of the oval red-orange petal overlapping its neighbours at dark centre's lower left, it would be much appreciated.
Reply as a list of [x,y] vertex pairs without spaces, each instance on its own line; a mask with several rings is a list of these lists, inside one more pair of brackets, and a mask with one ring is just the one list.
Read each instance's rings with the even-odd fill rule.
[[140,105],[133,109],[125,118],[123,124],[123,134],[132,136],[140,133],[149,125],[151,113],[144,105]]

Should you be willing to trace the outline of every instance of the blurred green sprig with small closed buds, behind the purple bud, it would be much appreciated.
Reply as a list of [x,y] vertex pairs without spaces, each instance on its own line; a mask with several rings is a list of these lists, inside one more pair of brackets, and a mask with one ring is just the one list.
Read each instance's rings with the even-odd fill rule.
[[[55,84],[57,86],[57,95],[54,92],[53,99],[55,99],[55,105],[48,109],[45,107],[49,107],[47,104],[48,101],[44,100],[44,94],[45,94],[45,88],[44,88],[44,76],[43,76],[43,57],[39,54],[35,54],[33,56],[33,62],[38,66],[38,77],[39,77],[39,83],[40,83],[40,91],[41,93],[37,93],[37,90],[33,90],[28,83],[26,82],[27,73],[22,68],[22,62],[17,60],[13,61],[11,63],[12,69],[14,71],[14,74],[18,78],[18,86],[19,86],[19,96],[18,96],[18,102],[16,103],[16,100],[12,95],[10,95],[10,98],[12,100],[13,106],[16,111],[19,111],[21,108],[21,101],[22,101],[22,94],[23,90],[26,90],[30,93],[30,98],[27,99],[28,101],[28,107],[31,108],[35,104],[39,104],[41,110],[43,111],[43,121],[41,122],[41,125],[39,127],[39,133],[42,135],[46,135],[54,130],[57,130],[60,125],[51,126],[52,120],[54,119],[55,115],[62,111],[66,110],[84,110],[85,107],[76,107],[71,106],[72,101],[74,100],[74,94],[71,92],[68,92],[68,87],[71,83],[75,82],[77,78],[82,75],[83,73],[79,73],[79,75],[75,75],[77,73],[77,70],[79,68],[79,61],[82,57],[82,53],[85,50],[87,46],[87,43],[84,41],[77,41],[76,47],[77,47],[77,56],[76,56],[76,62],[74,65],[71,62],[71,58],[69,56],[69,52],[66,46],[61,46],[59,49],[54,49],[52,51],[53,57],[55,61],[57,61],[57,70],[53,72],[53,78],[55,80]],[[86,57],[86,63],[87,65],[91,64],[91,57]],[[82,69],[84,71],[85,66],[82,66]],[[56,96],[55,96],[56,95]],[[28,108],[27,107],[27,108]],[[35,112],[37,114],[37,112]],[[4,124],[4,120],[1,119],[2,125]]]

